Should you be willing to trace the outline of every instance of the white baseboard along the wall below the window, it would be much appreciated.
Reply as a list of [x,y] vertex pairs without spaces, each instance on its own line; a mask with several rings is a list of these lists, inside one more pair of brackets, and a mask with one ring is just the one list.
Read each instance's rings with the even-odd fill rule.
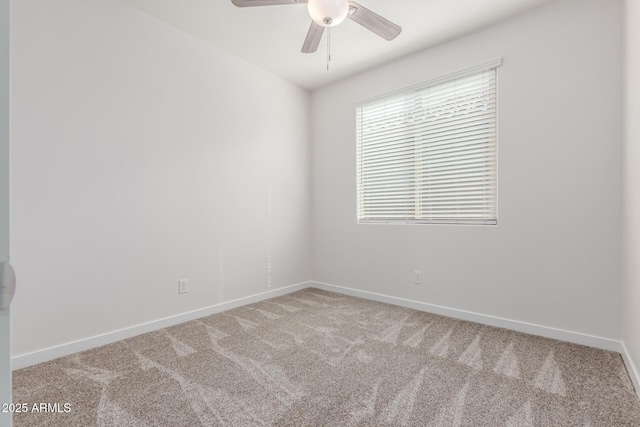
[[428,313],[439,314],[442,316],[453,317],[470,322],[482,323],[484,325],[496,326],[498,328],[510,329],[513,331],[524,332],[531,335],[538,335],[545,338],[567,341],[574,344],[599,348],[602,350],[615,351],[617,353],[622,353],[623,350],[623,344],[621,341],[616,341],[609,338],[581,334],[578,332],[571,332],[563,329],[551,328],[548,326],[540,326],[532,323],[520,322],[518,320],[504,319],[501,317],[474,313],[471,311],[458,310],[455,308],[443,307],[440,305],[428,304],[404,298],[397,298],[389,295],[377,294],[374,292],[345,288],[342,286],[331,285],[329,283],[311,282],[311,286],[319,289],[324,289],[326,291],[339,292],[354,297],[386,302],[388,304],[399,305],[401,307],[413,308],[415,310],[425,311]]

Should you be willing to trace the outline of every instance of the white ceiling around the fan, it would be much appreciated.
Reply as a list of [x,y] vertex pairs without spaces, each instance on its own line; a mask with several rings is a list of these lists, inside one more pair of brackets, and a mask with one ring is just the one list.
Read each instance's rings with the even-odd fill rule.
[[553,0],[358,0],[402,27],[386,41],[353,21],[326,32],[316,53],[300,52],[309,29],[306,4],[235,7],[231,0],[123,0],[161,21],[313,90]]

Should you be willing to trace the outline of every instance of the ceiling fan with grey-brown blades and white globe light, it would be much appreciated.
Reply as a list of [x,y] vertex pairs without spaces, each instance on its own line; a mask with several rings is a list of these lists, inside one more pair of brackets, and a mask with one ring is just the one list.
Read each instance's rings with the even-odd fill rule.
[[302,45],[303,53],[318,50],[325,28],[334,27],[346,18],[373,31],[385,40],[393,40],[402,28],[388,19],[370,11],[354,1],[348,0],[231,0],[238,7],[273,6],[280,4],[307,3],[311,26]]

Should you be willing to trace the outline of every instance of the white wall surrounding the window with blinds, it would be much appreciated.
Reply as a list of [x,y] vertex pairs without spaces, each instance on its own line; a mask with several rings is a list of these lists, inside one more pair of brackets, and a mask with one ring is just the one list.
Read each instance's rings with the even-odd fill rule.
[[[314,280],[619,340],[621,28],[558,1],[314,92]],[[353,104],[498,57],[498,226],[357,225]]]

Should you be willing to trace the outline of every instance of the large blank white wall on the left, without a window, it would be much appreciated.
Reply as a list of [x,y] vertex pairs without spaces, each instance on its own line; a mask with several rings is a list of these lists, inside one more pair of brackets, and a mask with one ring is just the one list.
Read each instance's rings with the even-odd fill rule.
[[12,19],[14,355],[309,279],[307,92],[119,1]]

